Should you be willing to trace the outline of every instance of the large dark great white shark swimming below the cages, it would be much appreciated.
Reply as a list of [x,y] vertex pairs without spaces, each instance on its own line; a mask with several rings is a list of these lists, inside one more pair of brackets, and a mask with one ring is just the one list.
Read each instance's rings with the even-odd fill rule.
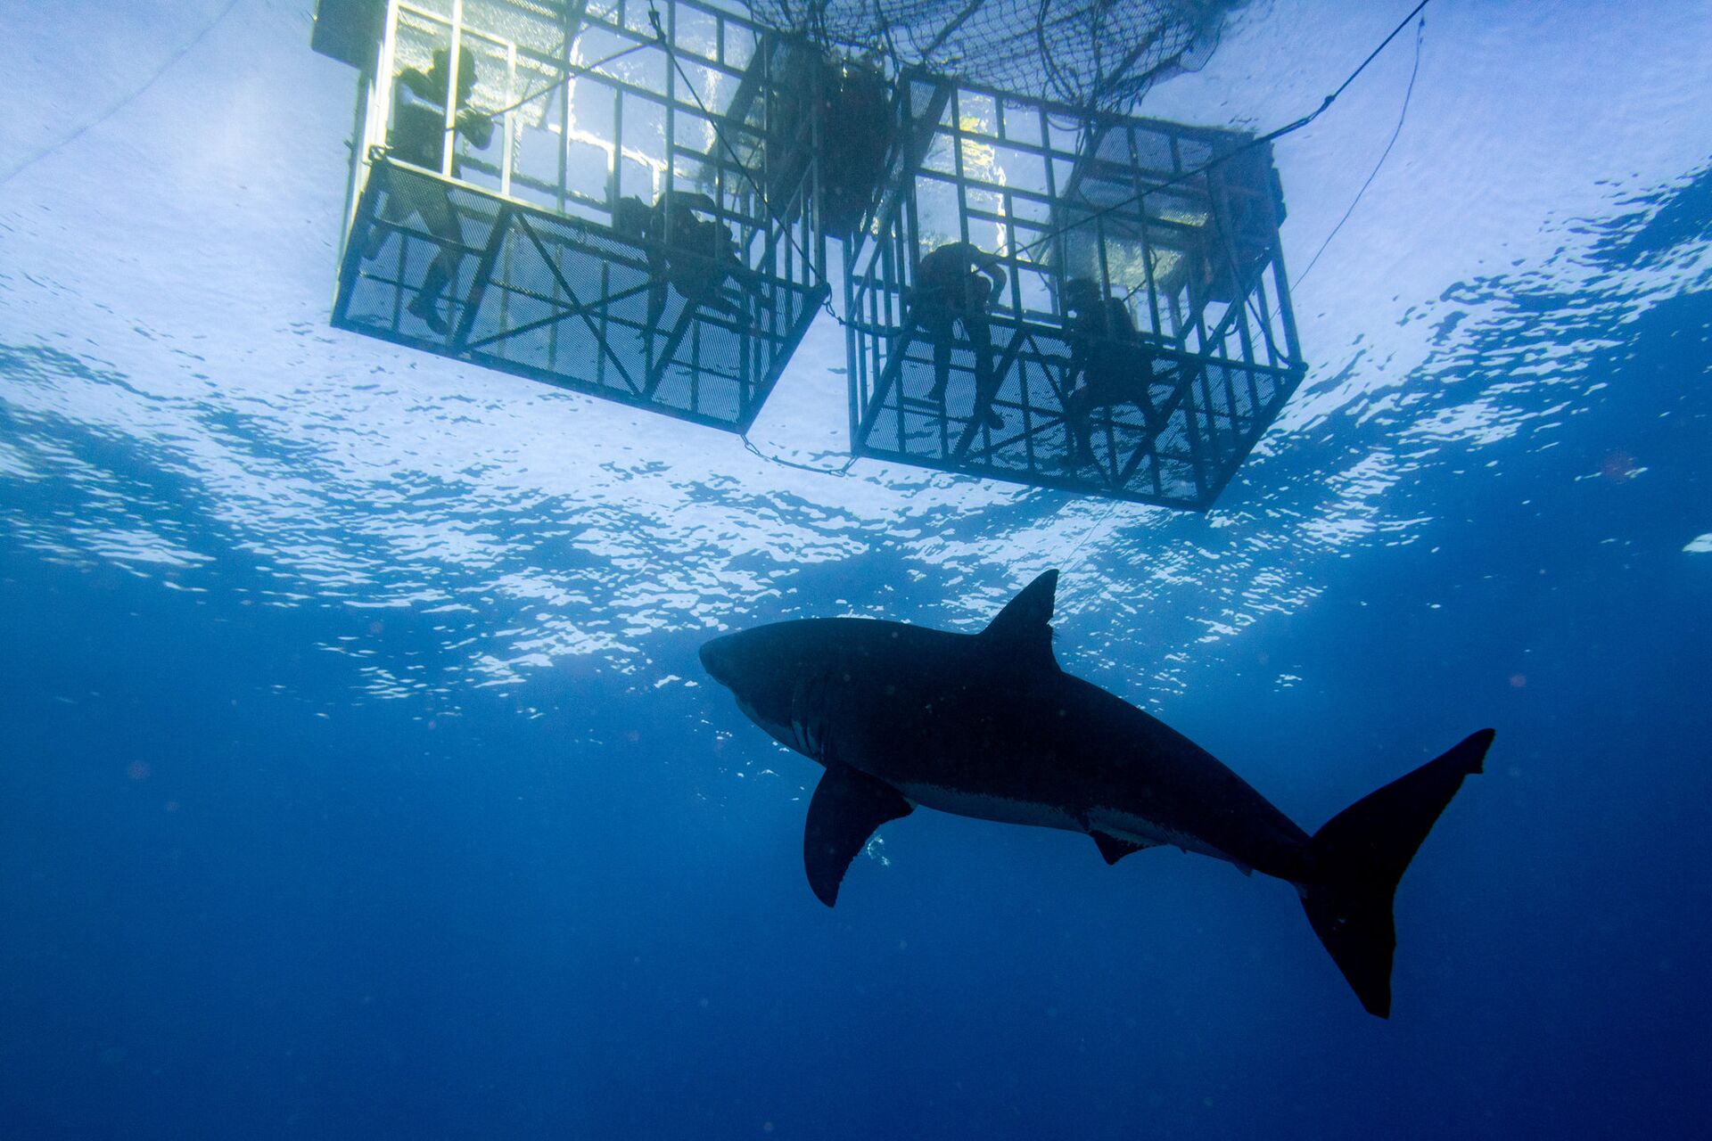
[[1397,881],[1493,730],[1308,835],[1183,734],[1063,672],[1056,587],[1046,571],[976,635],[823,618],[702,647],[750,720],[825,766],[803,833],[813,893],[832,907],[873,831],[916,807],[1082,831],[1108,864],[1173,845],[1293,884],[1356,997],[1387,1018]]

